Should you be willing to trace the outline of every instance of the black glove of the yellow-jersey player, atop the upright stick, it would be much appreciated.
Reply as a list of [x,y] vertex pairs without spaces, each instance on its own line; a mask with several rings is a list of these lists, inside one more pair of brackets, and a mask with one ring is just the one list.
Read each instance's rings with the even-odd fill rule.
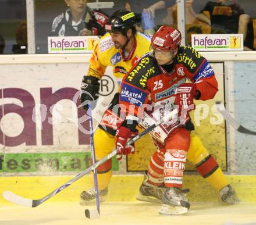
[[91,109],[94,109],[99,97],[99,79],[93,76],[84,76],[81,83],[80,101],[83,108],[88,110],[88,103],[91,103]]

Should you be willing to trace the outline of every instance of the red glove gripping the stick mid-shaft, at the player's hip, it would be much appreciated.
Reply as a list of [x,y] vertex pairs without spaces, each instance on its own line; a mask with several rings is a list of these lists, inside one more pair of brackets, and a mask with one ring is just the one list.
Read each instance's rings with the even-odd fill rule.
[[134,144],[126,146],[127,141],[135,137],[138,134],[138,131],[131,132],[127,127],[120,127],[116,133],[116,159],[122,159],[122,155],[134,154]]

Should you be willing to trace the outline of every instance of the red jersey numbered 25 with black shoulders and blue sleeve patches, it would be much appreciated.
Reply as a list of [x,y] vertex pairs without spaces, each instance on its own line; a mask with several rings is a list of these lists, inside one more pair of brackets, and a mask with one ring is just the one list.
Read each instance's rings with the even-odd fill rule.
[[[123,78],[119,98],[122,112],[126,113],[127,119],[138,117],[144,120],[143,112],[147,110],[147,114],[155,121],[161,119],[166,112],[173,110],[175,90],[187,78],[201,92],[201,100],[214,98],[218,91],[214,70],[195,49],[180,47],[173,71],[169,74],[148,53]],[[153,107],[146,109],[145,104]],[[150,124],[145,124],[145,127],[147,125]],[[168,130],[177,127],[176,125],[169,124]]]

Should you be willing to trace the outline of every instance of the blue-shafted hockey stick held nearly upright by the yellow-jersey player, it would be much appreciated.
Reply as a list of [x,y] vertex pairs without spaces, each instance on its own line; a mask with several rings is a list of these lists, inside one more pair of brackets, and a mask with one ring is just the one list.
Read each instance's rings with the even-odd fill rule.
[[[95,149],[94,149],[94,140],[93,140],[93,118],[91,116],[91,103],[88,103],[88,115],[89,115],[89,124],[90,124],[90,138],[91,138],[91,158],[93,159],[93,164],[95,164]],[[97,179],[97,169],[93,170],[94,176],[94,187],[95,187],[95,197],[96,197],[96,206],[97,210],[84,210],[84,214],[88,219],[98,218],[99,217],[99,191],[98,191],[98,179]]]

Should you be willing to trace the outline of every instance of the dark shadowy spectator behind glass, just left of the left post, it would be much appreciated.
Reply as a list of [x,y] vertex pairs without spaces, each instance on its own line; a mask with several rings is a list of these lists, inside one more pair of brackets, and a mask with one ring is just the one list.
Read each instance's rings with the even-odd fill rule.
[[27,22],[20,23],[16,30],[16,45],[12,45],[15,54],[27,54]]

